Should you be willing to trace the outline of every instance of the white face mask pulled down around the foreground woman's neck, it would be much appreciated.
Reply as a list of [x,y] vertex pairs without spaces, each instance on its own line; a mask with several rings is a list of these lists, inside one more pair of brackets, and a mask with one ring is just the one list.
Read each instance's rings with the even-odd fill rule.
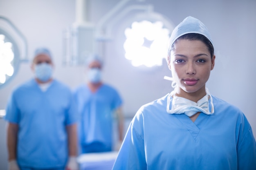
[[[207,88],[205,88],[207,95],[205,95],[202,99],[200,99],[197,103],[193,102],[189,99],[178,97],[175,95],[175,92],[172,91],[167,98],[167,108],[166,111],[169,114],[182,114],[191,117],[195,115],[195,113],[202,112],[207,115],[211,115],[214,113],[214,106],[212,97]],[[171,104],[171,96],[173,96],[173,101]],[[211,112],[209,111],[209,97],[211,101]],[[171,110],[170,110],[171,106]]]

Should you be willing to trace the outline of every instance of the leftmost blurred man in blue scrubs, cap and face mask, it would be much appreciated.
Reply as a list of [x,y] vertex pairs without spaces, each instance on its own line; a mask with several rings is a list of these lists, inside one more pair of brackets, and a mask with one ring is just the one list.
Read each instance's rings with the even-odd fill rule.
[[52,55],[35,51],[35,77],[18,86],[6,108],[9,170],[78,170],[77,108],[72,91],[53,79]]

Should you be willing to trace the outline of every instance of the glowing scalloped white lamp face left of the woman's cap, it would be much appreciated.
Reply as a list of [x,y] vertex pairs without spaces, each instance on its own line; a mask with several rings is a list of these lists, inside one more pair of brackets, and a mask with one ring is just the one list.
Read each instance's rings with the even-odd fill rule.
[[162,22],[133,22],[131,28],[125,30],[126,59],[131,60],[133,66],[161,66],[166,57],[169,33]]

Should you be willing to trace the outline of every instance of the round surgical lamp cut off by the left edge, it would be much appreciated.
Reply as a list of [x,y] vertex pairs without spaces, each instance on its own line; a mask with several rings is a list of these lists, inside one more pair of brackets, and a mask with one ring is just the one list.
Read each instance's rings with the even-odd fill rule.
[[[20,57],[17,39],[21,38],[25,48],[24,53],[27,53],[27,42],[24,36],[18,29],[5,17],[0,16],[0,20],[4,20],[11,29],[2,28],[0,26],[0,88],[6,85],[18,72],[21,61],[27,61]],[[6,31],[8,30],[8,32]],[[18,36],[17,36],[18,35]],[[16,38],[13,38],[15,37]]]

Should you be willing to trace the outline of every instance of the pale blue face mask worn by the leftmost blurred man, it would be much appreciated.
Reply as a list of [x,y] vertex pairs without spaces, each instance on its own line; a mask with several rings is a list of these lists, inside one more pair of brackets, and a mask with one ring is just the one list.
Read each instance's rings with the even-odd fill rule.
[[52,66],[47,63],[37,64],[35,66],[35,76],[42,82],[47,82],[52,77]]

